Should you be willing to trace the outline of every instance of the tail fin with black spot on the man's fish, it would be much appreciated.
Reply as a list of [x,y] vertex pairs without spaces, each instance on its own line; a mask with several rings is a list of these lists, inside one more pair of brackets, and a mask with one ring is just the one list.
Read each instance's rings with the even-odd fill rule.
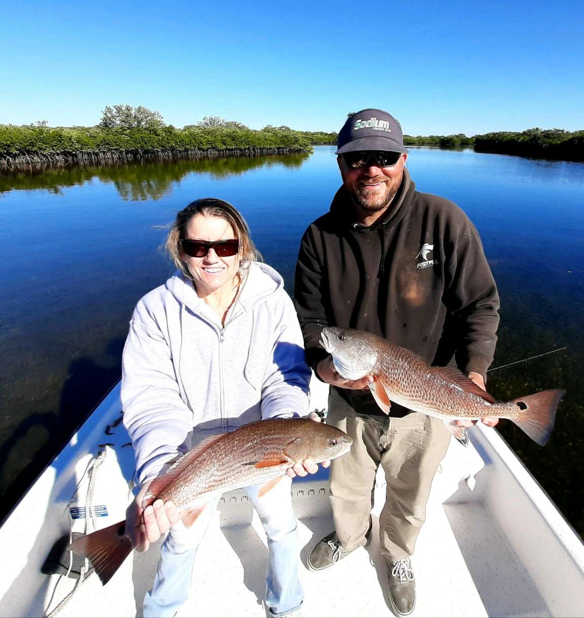
[[544,446],[554,429],[557,405],[564,393],[562,389],[551,389],[512,399],[511,403],[517,405],[521,412],[518,418],[510,420],[534,442]]

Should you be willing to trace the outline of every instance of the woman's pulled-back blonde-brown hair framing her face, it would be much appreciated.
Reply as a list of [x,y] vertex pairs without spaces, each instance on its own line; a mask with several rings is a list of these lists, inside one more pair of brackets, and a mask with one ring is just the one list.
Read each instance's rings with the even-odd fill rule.
[[174,265],[184,276],[192,279],[191,273],[184,261],[181,260],[181,240],[184,240],[187,226],[194,216],[203,214],[206,217],[217,217],[230,224],[233,234],[239,240],[240,268],[249,266],[249,262],[260,261],[262,256],[255,248],[251,239],[249,227],[241,213],[230,203],[218,200],[217,198],[207,197],[192,201],[186,208],[176,214],[176,220],[166,237],[166,251],[171,256]]

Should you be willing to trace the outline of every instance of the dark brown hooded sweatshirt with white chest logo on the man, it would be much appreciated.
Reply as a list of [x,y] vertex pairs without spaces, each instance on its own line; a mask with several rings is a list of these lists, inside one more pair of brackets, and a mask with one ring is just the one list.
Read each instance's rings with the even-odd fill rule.
[[[457,205],[419,193],[407,170],[387,211],[354,221],[341,187],[304,232],[294,304],[306,358],[316,366],[324,326],[373,332],[433,365],[486,375],[497,341],[499,295],[478,232]],[[369,389],[336,389],[357,412],[382,413]],[[392,404],[392,416],[409,410]]]

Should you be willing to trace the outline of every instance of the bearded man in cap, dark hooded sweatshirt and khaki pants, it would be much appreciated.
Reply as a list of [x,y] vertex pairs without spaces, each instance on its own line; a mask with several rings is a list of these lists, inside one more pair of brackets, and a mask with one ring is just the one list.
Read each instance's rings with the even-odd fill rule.
[[[320,332],[324,326],[373,332],[434,365],[455,362],[484,389],[499,297],[478,233],[463,211],[416,191],[405,169],[401,127],[390,114],[351,114],[338,135],[337,155],[343,185],[330,211],[304,233],[294,302],[307,361],[332,385],[327,422],[350,434],[353,447],[332,462],[335,531],[312,549],[308,565],[326,569],[369,543],[381,465],[387,479],[381,552],[392,609],[407,616],[416,599],[410,556],[450,433],[442,421],[393,402],[385,415],[367,387],[372,376],[341,378],[319,345]],[[497,420],[483,422],[493,426]]]

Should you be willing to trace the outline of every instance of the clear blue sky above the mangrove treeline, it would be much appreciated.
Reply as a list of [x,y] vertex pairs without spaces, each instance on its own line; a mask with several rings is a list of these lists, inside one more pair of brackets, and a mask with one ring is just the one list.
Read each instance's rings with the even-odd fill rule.
[[93,125],[106,105],[176,127],[222,116],[410,135],[584,129],[582,2],[0,2],[0,122]]

